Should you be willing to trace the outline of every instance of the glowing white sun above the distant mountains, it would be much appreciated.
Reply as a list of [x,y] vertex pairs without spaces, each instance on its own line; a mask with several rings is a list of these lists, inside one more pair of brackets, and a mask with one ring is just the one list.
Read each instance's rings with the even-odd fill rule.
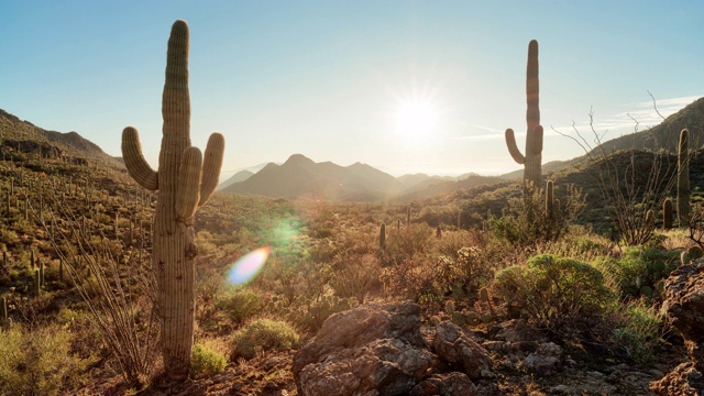
[[438,109],[429,100],[410,99],[399,101],[394,112],[396,132],[407,138],[425,138],[438,125]]

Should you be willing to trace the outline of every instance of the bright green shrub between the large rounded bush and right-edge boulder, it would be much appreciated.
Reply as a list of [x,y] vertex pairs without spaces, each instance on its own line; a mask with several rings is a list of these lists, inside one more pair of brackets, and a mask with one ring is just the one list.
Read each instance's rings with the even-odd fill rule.
[[679,264],[678,251],[644,246],[626,248],[620,258],[602,257],[594,265],[607,276],[620,297],[657,297],[660,282]]

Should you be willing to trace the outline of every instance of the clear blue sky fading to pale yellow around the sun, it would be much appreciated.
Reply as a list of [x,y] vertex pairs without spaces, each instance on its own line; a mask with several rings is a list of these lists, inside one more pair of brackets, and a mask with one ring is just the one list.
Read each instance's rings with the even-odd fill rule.
[[[540,47],[543,163],[704,96],[702,1],[0,0],[0,109],[156,169],[170,25],[190,26],[191,142],[226,138],[221,180],[304,154],[400,176],[521,168],[528,42]],[[636,123],[634,121],[638,121]]]

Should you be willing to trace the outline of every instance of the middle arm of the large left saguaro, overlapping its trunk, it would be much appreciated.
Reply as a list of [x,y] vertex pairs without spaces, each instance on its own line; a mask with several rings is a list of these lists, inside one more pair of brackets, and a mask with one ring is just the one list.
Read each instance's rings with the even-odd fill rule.
[[193,224],[200,200],[200,172],[202,168],[202,155],[197,147],[188,147],[182,156],[178,170],[178,189],[176,191],[176,220],[186,224]]

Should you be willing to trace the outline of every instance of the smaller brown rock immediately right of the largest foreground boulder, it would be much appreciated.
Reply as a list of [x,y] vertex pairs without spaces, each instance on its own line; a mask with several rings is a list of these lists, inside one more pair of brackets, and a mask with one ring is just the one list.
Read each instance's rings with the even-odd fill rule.
[[470,332],[444,321],[438,324],[432,341],[436,354],[450,365],[463,369],[472,380],[485,376],[492,369],[492,360],[482,345],[470,337]]

